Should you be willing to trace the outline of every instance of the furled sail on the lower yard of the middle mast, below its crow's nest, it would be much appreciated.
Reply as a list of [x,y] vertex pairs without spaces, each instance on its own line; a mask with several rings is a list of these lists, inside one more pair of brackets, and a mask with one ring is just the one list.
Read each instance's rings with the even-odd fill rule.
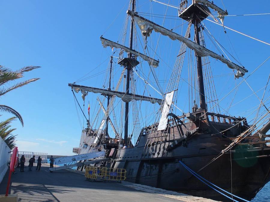
[[113,90],[107,90],[107,89],[101,89],[101,88],[93,88],[93,87],[88,87],[88,86],[79,86],[75,84],[70,84],[72,86],[73,90],[75,92],[83,92],[83,91],[88,91],[88,92],[93,92],[93,93],[101,93],[105,95],[110,95],[110,96],[117,96],[121,98],[124,102],[130,102],[132,100],[143,100],[143,101],[149,101],[152,104],[158,103],[161,105],[162,99],[158,98],[151,98],[143,95],[135,95],[131,93],[125,93],[125,92],[119,92],[119,91],[113,91]]

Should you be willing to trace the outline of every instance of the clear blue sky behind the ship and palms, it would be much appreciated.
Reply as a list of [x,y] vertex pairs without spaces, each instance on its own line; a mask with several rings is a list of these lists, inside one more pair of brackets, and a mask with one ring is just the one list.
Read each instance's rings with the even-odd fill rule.
[[[223,2],[229,14],[232,15],[269,13],[269,1],[257,1],[255,5],[251,0]],[[223,8],[220,0],[216,0],[214,3]],[[140,12],[150,12],[149,1],[139,0],[137,6],[142,4],[144,5],[140,7]],[[170,1],[170,4],[177,5],[178,1]],[[164,14],[167,8],[156,3],[151,5],[152,13]],[[127,7],[126,0],[0,2],[1,65],[13,70],[29,65],[42,66],[25,76],[25,79],[41,78],[39,81],[14,90],[1,98],[2,104],[13,107],[24,119],[24,127],[20,125],[19,121],[13,123],[13,127],[17,128],[14,134],[18,134],[19,151],[72,155],[72,148],[79,144],[81,126],[74,107],[73,95],[67,84],[76,81],[88,72],[90,72],[88,76],[91,76],[107,68],[107,61],[104,65],[100,64],[110,56],[111,51],[109,48],[106,50],[102,47],[99,37],[103,34],[110,40],[119,39]],[[167,13],[175,16],[177,10],[169,8]],[[269,16],[228,16],[225,18],[225,25],[270,42]],[[162,24],[163,19],[152,18],[152,20]],[[180,22],[182,21],[179,19],[173,21],[176,26]],[[172,27],[170,23],[171,20],[166,19],[164,26]],[[210,22],[204,23],[214,37],[229,49],[222,28]],[[237,56],[241,63],[249,69],[249,73],[269,56],[268,45],[229,30],[227,33]],[[167,38],[164,37],[161,40],[166,46]],[[210,44],[207,47],[213,49]],[[162,52],[162,50],[158,51]],[[168,55],[164,57],[168,59]],[[171,64],[173,63],[172,60]],[[254,90],[265,85],[270,72],[269,64],[269,61],[266,62],[249,78],[249,83]],[[95,68],[97,66],[99,67]],[[213,74],[230,73],[230,69],[226,69],[224,66],[221,68],[224,69],[215,70],[216,72]],[[156,71],[158,75],[162,75],[159,78],[164,79],[168,70],[165,66],[161,66]],[[78,84],[102,87],[99,81],[103,78],[104,74],[101,74]],[[216,80],[220,81],[219,78]],[[230,81],[235,82],[233,78],[230,78]],[[228,84],[226,89],[223,89],[222,86],[217,89],[225,94],[233,86],[234,84],[232,86]],[[236,101],[251,93],[250,89],[244,85],[238,91]],[[261,94],[262,91],[258,92],[259,97]],[[91,106],[95,99],[95,95],[88,95],[87,100],[90,100]],[[251,96],[241,103],[243,108],[235,110],[241,112],[244,111],[245,106],[251,108],[257,104],[259,104],[257,98]],[[10,114],[4,114],[1,119],[10,116]]]

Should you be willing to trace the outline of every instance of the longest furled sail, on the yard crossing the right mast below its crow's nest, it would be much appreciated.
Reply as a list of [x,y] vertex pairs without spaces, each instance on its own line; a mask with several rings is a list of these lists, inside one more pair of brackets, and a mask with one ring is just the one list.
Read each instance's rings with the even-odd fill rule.
[[193,49],[198,56],[200,56],[200,57],[206,57],[206,56],[213,57],[213,58],[218,59],[221,62],[225,63],[230,69],[236,69],[237,70],[237,73],[235,75],[236,78],[243,77],[244,74],[246,72],[248,72],[247,69],[245,69],[244,67],[238,66],[237,64],[227,60],[223,56],[220,56],[220,55],[214,53],[213,51],[210,51],[207,48],[205,48],[205,47],[203,47],[203,46],[201,46],[193,41],[190,41],[190,40],[186,39],[185,37],[182,37],[179,34],[176,34],[176,33],[172,32],[172,31],[170,31],[170,30],[168,30],[168,29],[166,29],[166,28],[164,28],[164,27],[162,27],[154,22],[151,22],[151,21],[137,15],[136,13],[134,13],[131,10],[128,10],[127,13],[131,16],[134,16],[136,23],[140,27],[143,35],[145,35],[145,36],[146,35],[150,36],[152,30],[154,30],[156,32],[161,33],[164,36],[170,37],[170,39],[172,39],[172,40],[179,40],[179,41],[185,43],[188,48]]

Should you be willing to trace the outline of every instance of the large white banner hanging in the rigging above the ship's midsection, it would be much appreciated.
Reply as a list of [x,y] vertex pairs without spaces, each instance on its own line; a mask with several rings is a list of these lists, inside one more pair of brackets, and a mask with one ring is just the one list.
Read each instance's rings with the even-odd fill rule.
[[158,124],[158,130],[165,130],[167,127],[167,115],[170,112],[171,104],[173,101],[174,91],[166,94],[165,102],[163,104],[162,114]]

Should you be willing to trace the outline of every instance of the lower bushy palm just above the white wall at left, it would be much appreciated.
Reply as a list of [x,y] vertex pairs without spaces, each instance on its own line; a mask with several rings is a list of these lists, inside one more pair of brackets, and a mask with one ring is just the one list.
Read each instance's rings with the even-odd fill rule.
[[16,130],[16,128],[10,128],[11,121],[15,120],[16,117],[11,117],[5,121],[0,122],[0,136],[6,142],[10,149],[15,147],[15,137],[17,135],[13,135],[12,132]]

